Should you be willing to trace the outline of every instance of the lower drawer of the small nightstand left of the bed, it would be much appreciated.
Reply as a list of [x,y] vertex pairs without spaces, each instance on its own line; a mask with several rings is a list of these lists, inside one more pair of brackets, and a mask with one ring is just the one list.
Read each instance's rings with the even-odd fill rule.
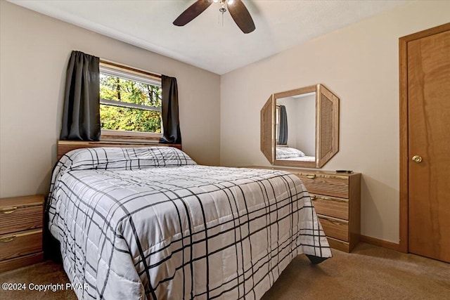
[[0,260],[42,251],[42,229],[0,236]]

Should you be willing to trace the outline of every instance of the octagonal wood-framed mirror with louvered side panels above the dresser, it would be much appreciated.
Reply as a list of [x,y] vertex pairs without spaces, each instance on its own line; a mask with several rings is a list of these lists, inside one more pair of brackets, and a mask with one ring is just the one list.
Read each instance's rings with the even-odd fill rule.
[[339,150],[339,98],[322,84],[274,93],[261,110],[261,151],[271,164],[321,168]]

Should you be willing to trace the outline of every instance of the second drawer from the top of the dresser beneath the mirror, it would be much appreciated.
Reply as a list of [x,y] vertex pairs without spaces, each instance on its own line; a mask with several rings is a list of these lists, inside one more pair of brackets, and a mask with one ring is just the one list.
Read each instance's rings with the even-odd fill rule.
[[317,214],[323,214],[325,216],[333,216],[335,218],[344,220],[349,219],[348,199],[314,195],[314,194],[310,195]]

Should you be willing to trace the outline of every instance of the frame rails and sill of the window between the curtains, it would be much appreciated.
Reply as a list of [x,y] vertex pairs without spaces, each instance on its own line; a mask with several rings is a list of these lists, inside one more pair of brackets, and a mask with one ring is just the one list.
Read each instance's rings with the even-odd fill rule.
[[[153,86],[161,86],[161,75],[139,70],[127,65],[113,63],[108,60],[100,60],[100,74],[108,74],[123,79],[140,81]],[[152,110],[161,112],[161,107],[151,107],[134,103],[119,103],[117,100],[100,98],[100,104],[117,107],[129,107],[141,110]],[[161,122],[161,133],[144,131],[125,131],[113,129],[101,129],[101,141],[159,141],[164,132]]]

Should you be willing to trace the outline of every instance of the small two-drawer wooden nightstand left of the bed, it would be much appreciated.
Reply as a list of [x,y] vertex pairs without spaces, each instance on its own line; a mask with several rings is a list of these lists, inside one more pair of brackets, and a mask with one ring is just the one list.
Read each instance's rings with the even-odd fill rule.
[[0,199],[0,273],[43,260],[44,196]]

